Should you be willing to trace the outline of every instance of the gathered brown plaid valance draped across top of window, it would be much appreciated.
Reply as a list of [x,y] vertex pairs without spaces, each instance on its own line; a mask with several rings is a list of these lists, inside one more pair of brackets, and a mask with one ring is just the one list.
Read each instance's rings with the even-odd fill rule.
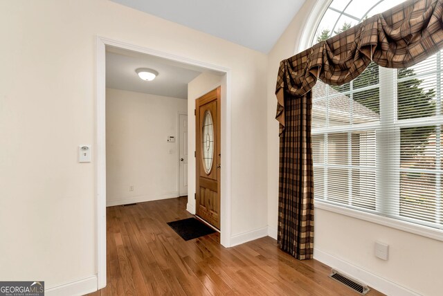
[[318,78],[341,85],[359,76],[371,60],[387,68],[407,68],[443,46],[443,0],[410,0],[365,19],[343,33],[280,62],[275,118],[284,120],[284,95],[305,95]]

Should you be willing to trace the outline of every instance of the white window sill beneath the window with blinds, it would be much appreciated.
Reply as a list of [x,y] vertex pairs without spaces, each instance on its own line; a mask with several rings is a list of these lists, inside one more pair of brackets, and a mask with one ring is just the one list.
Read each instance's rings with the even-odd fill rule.
[[370,214],[366,212],[359,212],[356,210],[347,209],[345,207],[324,203],[322,201],[314,201],[314,207],[321,210],[334,212],[336,214],[350,216],[355,219],[376,223],[379,225],[383,225],[389,228],[394,228],[404,232],[410,232],[413,234],[420,235],[422,237],[428,237],[429,239],[435,239],[436,241],[443,241],[443,230],[428,228],[426,226],[417,225],[406,221],[399,221],[396,219]]

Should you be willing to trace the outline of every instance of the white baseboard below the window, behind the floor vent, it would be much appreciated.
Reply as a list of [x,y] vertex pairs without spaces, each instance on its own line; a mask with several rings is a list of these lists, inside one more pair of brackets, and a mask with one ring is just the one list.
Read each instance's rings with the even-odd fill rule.
[[325,263],[326,265],[331,266],[332,268],[341,271],[386,295],[419,296],[419,294],[408,288],[399,286],[388,279],[383,279],[383,277],[379,277],[368,270],[359,268],[359,266],[355,266],[350,262],[318,250],[317,248],[314,248],[314,259]]

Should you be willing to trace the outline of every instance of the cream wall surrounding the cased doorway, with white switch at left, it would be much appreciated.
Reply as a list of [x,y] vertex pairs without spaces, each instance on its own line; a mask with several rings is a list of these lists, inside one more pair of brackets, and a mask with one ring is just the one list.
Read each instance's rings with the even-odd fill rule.
[[266,55],[107,0],[0,1],[0,35],[0,279],[97,273],[98,35],[231,69],[232,230],[266,226]]

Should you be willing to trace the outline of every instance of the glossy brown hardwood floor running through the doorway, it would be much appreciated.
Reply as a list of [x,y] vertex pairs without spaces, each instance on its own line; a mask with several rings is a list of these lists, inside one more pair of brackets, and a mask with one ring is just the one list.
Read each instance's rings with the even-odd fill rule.
[[270,237],[233,248],[217,232],[183,241],[166,222],[191,217],[186,203],[108,207],[107,286],[89,295],[359,295],[329,279],[325,264],[298,261]]

